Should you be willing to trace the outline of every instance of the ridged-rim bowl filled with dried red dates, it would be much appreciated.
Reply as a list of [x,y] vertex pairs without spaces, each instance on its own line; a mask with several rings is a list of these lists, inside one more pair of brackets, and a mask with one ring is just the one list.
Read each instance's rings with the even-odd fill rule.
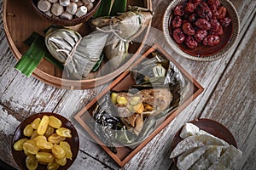
[[229,0],[177,0],[166,8],[163,31],[173,49],[188,59],[209,61],[230,51],[239,18]]

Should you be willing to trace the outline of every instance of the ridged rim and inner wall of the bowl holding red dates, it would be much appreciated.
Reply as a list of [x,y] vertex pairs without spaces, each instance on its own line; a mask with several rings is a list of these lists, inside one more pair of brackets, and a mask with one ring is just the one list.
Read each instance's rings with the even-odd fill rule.
[[185,53],[177,43],[172,39],[170,36],[170,31],[169,31],[169,19],[172,14],[172,8],[177,6],[178,3],[185,2],[185,0],[177,0],[177,1],[172,1],[166,8],[166,12],[163,17],[163,32],[164,36],[166,37],[166,41],[168,44],[171,46],[171,48],[177,52],[177,54],[187,58],[187,59],[192,59],[192,60],[197,60],[197,61],[212,61],[216,59],[220,59],[227,55],[232,48],[235,47],[235,44],[238,40],[239,37],[239,31],[240,31],[240,21],[239,21],[239,16],[237,14],[236,8],[234,5],[229,1],[229,0],[220,0],[220,3],[224,5],[228,9],[228,12],[230,14],[230,18],[232,19],[232,35],[230,37],[230,40],[226,42],[226,45],[224,48],[221,48],[218,50],[218,52],[214,54],[209,54],[204,57],[198,57],[194,55],[190,55],[188,53]]

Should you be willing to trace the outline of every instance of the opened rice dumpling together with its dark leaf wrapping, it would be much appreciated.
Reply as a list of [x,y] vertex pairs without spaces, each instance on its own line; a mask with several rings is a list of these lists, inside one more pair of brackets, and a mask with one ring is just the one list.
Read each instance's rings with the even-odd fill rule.
[[[141,144],[183,101],[189,82],[170,60],[150,54],[130,71],[132,84],[98,100],[90,127],[114,152]],[[125,82],[124,82],[125,83]]]

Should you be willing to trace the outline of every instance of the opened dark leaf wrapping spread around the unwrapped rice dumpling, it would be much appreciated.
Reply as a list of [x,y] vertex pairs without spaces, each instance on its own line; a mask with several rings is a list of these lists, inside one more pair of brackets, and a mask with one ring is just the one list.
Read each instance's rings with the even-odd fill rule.
[[[160,71],[157,72],[160,72],[160,74],[155,74],[155,69],[159,69]],[[132,133],[131,129],[127,129],[128,127],[125,127],[125,123],[118,117],[118,108],[113,106],[114,104],[110,94],[105,94],[105,96],[103,96],[99,101],[98,105],[101,106],[101,110],[95,111],[94,117],[96,117],[97,114],[101,114],[102,110],[106,111],[106,108],[108,108],[106,111],[108,112],[108,116],[115,117],[116,120],[119,121],[119,125],[123,126],[122,128],[112,128],[111,126],[108,126],[108,130],[111,131],[112,134],[111,137],[106,137],[106,133],[101,134],[97,132],[99,137],[101,137],[101,139],[104,138],[104,140],[108,138],[108,142],[112,141],[112,145],[122,144],[134,148],[138,144],[142,143],[143,140],[146,139],[154,129],[165,120],[166,116],[170,116],[172,111],[180,105],[184,95],[186,95],[190,82],[184,79],[183,74],[177,69],[176,65],[162,57],[161,54],[157,52],[153,54],[152,59],[145,59],[139,65],[133,67],[131,75],[133,75],[136,82],[136,85],[132,86],[128,90],[131,94],[136,94],[138,90],[140,91],[147,88],[166,88],[169,89],[173,95],[172,102],[165,111],[161,111],[160,114],[156,116],[152,114],[151,116],[144,117],[143,128],[138,135]],[[97,117],[99,119],[99,116]],[[107,119],[104,119],[104,121],[106,120]],[[96,129],[94,130],[96,131]]]

